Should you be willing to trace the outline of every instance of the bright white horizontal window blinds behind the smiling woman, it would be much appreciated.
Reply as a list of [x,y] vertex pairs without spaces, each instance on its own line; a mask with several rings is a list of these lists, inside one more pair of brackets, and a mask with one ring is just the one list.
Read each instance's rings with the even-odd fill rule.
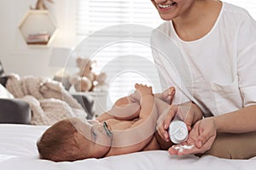
[[[255,0],[224,0],[224,2],[246,8],[256,19]],[[157,83],[158,73],[153,65],[151,49],[147,45],[132,41],[115,42],[115,40],[112,44],[105,44],[104,47],[99,45],[104,41],[108,42],[113,38],[111,35],[114,36],[117,32],[122,35],[123,30],[119,29],[119,25],[130,23],[150,28],[159,26],[163,21],[154,5],[149,0],[78,0],[77,4],[78,41],[84,39],[86,41],[92,34],[94,36],[89,44],[79,49],[78,54],[96,59],[94,71],[107,73],[110,100],[115,101],[127,95],[135,82],[150,84],[154,86],[154,92],[160,92],[160,84]],[[113,28],[117,26],[117,30],[102,31],[111,26]],[[148,38],[143,35],[143,31],[136,36]],[[88,51],[91,53],[88,54]]]

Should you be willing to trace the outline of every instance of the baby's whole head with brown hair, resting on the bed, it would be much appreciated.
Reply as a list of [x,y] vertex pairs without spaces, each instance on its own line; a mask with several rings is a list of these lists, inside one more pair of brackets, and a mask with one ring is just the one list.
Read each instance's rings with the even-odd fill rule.
[[76,161],[105,156],[111,141],[111,134],[104,130],[102,123],[70,118],[49,127],[37,146],[41,159]]

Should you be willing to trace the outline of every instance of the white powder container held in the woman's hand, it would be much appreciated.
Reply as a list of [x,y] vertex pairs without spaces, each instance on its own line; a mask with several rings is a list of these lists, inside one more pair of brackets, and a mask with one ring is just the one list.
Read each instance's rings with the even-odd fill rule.
[[172,143],[182,143],[188,139],[188,135],[189,132],[186,124],[178,116],[175,116],[169,126],[169,136]]

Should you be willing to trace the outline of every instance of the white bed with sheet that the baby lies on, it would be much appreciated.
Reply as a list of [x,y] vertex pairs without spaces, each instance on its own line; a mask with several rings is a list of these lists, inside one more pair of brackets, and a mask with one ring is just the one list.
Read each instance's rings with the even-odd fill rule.
[[167,151],[138,152],[103,159],[53,162],[38,159],[36,141],[47,127],[0,124],[1,170],[156,170],[156,169],[256,169],[256,157],[250,160],[226,160],[214,156],[169,156]]

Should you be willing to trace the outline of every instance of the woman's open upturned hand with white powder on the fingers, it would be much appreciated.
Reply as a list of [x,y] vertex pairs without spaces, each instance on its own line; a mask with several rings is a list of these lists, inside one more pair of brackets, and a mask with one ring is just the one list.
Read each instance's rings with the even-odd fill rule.
[[216,135],[213,117],[207,117],[195,123],[186,142],[173,145],[168,151],[170,155],[179,156],[205,153],[211,149]]

